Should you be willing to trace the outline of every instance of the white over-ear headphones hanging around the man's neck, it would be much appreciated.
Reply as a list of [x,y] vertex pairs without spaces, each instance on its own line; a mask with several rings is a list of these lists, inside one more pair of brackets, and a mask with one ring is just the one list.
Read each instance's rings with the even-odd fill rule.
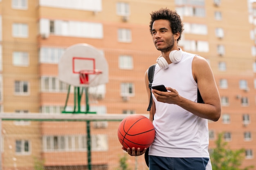
[[[170,58],[171,62],[173,62],[173,63],[180,62],[181,57],[182,57],[182,49],[181,48],[179,48],[179,50],[173,50],[169,54],[169,58]],[[165,58],[162,55],[160,55],[157,58],[157,64],[159,65],[160,68],[166,69],[169,67],[167,61],[165,60]]]

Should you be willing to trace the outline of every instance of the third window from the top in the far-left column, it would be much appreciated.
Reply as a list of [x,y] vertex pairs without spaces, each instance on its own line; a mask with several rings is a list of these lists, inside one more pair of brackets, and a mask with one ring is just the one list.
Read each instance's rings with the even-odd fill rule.
[[26,52],[13,52],[12,53],[12,63],[14,66],[28,66],[29,65],[29,55]]

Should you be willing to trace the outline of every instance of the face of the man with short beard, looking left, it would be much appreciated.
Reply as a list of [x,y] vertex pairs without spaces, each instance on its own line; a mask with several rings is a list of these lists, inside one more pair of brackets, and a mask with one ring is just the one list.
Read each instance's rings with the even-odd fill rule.
[[155,20],[151,33],[157,50],[162,52],[171,51],[174,45],[174,38],[168,20]]

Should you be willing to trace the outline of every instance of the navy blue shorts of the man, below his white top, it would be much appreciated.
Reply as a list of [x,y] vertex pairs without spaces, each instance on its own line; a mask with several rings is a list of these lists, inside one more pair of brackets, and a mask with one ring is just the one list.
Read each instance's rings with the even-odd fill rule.
[[212,170],[209,158],[169,158],[149,155],[149,170]]

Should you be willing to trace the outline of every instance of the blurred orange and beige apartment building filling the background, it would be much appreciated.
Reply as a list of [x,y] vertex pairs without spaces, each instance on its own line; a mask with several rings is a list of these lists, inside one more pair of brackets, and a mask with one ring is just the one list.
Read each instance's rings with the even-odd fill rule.
[[[205,57],[213,69],[222,116],[209,121],[209,148],[222,132],[230,148],[245,148],[242,166],[256,167],[256,7],[249,1],[0,0],[1,112],[63,114],[69,84],[58,79],[58,61],[69,46],[86,43],[103,53],[109,69],[109,82],[90,88],[90,109],[147,114],[144,74],[160,54],[149,13],[161,7],[182,16],[183,51]],[[70,91],[67,110],[74,105]],[[118,124],[90,123],[93,169],[119,166],[125,153]],[[82,121],[2,121],[2,170],[88,169],[87,129]],[[128,163],[147,169],[143,157]]]

